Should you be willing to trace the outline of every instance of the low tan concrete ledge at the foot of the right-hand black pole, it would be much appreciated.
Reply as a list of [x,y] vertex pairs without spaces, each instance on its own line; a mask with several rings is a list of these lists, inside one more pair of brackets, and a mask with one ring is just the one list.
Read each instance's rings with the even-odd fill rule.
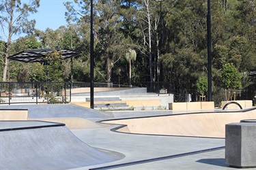
[[169,109],[214,109],[214,101],[169,103]]

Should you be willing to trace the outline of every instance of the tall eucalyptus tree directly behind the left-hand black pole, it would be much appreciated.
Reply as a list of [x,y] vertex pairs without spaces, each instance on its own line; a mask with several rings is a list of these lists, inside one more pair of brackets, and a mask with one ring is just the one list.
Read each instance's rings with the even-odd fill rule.
[[[69,13],[68,19],[76,19],[76,22],[84,22],[86,26],[90,25],[89,1],[74,1],[79,5],[76,10],[72,3],[66,3]],[[125,48],[122,46],[123,34],[119,31],[122,26],[122,18],[119,14],[119,1],[95,1],[94,4],[94,39],[96,59],[96,75],[106,82],[111,82],[112,69],[124,55]],[[75,14],[75,15],[74,15]],[[86,32],[89,32],[89,27]],[[105,67],[105,70],[102,70]],[[97,77],[98,76],[98,77]]]

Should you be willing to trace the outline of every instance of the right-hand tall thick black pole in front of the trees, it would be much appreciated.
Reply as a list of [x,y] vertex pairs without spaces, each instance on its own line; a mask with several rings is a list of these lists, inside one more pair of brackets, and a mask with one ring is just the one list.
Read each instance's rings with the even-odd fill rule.
[[211,56],[211,3],[207,2],[207,41],[208,41],[208,101],[212,101],[212,56]]

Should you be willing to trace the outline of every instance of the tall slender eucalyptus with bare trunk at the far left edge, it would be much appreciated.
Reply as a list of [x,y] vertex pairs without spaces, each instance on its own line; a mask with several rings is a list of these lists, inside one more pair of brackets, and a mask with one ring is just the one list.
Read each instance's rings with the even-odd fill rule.
[[[7,39],[5,63],[3,68],[3,82],[6,81],[8,71],[8,56],[10,55],[10,46],[12,36],[18,33],[31,33],[35,26],[35,20],[29,20],[29,14],[37,12],[40,0],[31,0],[28,3],[22,3],[20,0],[1,0],[0,2],[0,23],[3,33]],[[7,33],[6,33],[7,32]]]

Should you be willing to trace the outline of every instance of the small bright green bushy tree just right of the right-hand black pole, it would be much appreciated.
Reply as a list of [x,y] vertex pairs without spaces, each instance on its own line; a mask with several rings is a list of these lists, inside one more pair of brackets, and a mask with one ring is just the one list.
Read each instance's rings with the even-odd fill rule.
[[221,79],[225,89],[240,89],[242,87],[241,78],[242,75],[239,73],[238,69],[236,69],[233,63],[227,63],[223,66]]

